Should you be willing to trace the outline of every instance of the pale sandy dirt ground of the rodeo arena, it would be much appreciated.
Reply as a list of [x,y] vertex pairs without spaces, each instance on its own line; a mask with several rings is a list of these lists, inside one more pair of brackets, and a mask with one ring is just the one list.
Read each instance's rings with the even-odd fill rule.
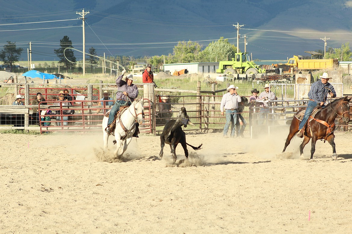
[[172,167],[158,136],[119,161],[101,132],[0,134],[0,233],[352,233],[352,134],[336,134],[335,161],[319,141],[314,162],[302,139],[281,154],[287,132],[273,135],[187,133],[203,148],[182,163],[179,146]]

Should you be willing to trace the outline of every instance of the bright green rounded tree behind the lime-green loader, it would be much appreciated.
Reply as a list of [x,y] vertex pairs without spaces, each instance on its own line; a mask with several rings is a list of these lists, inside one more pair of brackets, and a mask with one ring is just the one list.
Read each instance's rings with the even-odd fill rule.
[[237,48],[228,42],[228,39],[221,37],[217,41],[212,41],[201,52],[200,61],[202,62],[216,62],[227,61],[235,57]]

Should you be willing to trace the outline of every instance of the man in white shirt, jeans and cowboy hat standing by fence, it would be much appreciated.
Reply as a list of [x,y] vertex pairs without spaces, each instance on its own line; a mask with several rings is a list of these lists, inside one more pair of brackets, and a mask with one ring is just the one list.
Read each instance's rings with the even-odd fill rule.
[[237,108],[238,108],[238,103],[241,102],[241,97],[240,95],[237,94],[237,89],[238,87],[234,85],[230,85],[226,89],[227,93],[225,93],[221,99],[221,104],[220,104],[221,115],[224,116],[224,112],[226,115],[226,123],[224,127],[224,132],[223,132],[224,138],[228,138],[227,132],[228,132],[228,128],[230,127],[230,122],[231,122],[231,138],[235,137]]

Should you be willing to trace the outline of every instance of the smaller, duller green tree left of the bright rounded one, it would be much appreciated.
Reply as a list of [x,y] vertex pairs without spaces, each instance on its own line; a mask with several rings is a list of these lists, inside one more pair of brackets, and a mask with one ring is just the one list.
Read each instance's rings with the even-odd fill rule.
[[181,62],[198,62],[199,53],[202,46],[198,42],[192,41],[179,41],[174,47],[172,58],[178,63]]

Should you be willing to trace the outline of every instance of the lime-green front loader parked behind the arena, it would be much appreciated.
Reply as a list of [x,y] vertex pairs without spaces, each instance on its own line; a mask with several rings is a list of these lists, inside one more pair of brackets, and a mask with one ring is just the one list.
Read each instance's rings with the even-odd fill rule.
[[247,53],[235,53],[235,58],[231,61],[220,61],[219,69],[216,73],[224,74],[257,74],[265,73],[264,68],[260,68],[254,62],[249,61]]

